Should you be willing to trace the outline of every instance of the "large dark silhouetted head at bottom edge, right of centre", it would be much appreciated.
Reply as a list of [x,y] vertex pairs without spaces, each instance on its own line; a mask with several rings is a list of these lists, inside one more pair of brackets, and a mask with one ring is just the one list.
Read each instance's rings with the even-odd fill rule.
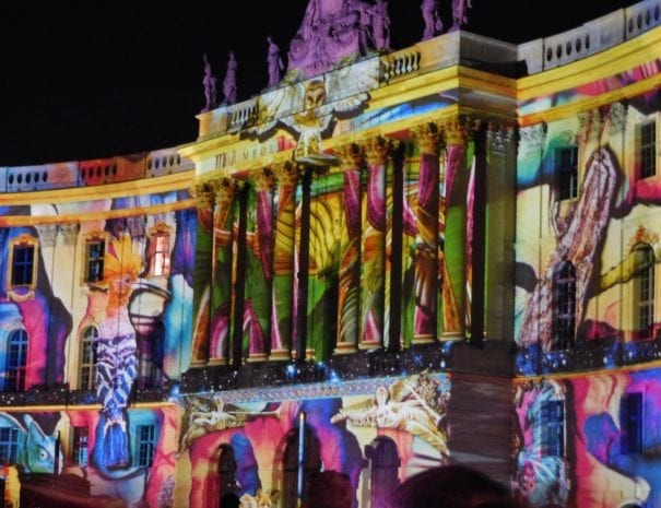
[[481,471],[449,464],[406,479],[392,492],[390,508],[527,508],[527,505]]

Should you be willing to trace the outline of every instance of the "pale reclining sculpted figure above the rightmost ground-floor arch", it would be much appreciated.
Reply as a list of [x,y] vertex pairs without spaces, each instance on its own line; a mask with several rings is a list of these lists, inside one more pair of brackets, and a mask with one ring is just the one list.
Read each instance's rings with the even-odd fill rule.
[[[424,380],[423,380],[424,382]],[[425,387],[421,387],[423,391]],[[331,423],[347,421],[359,427],[394,428],[418,436],[444,454],[449,453],[444,414],[417,393],[411,381],[398,381],[379,387],[367,404],[343,407],[331,417]]]

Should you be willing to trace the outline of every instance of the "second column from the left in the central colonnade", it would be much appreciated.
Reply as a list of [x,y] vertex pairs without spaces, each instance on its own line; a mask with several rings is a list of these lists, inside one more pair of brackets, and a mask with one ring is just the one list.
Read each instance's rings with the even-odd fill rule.
[[[229,338],[234,285],[232,281],[234,245],[234,203],[239,182],[221,178],[214,182],[213,258],[211,287],[210,364],[229,361]],[[240,326],[240,324],[239,324]]]

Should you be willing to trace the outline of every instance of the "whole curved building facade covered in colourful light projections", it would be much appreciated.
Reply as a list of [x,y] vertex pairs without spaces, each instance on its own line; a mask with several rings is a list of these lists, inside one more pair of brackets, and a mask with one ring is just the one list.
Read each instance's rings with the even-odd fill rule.
[[194,142],[1,168],[14,506],[56,473],[71,506],[291,508],[333,469],[380,508],[451,461],[659,506],[661,2],[399,51],[364,4],[310,2],[299,67]]

